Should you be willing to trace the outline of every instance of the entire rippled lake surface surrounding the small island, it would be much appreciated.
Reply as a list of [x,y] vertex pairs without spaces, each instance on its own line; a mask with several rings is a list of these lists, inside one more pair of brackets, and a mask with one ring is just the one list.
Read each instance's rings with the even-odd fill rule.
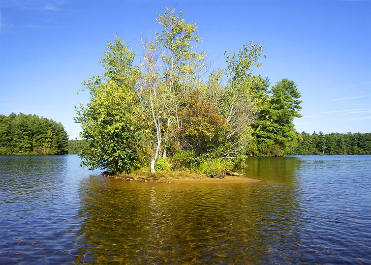
[[155,184],[0,156],[0,264],[370,264],[371,156],[249,165],[261,182]]

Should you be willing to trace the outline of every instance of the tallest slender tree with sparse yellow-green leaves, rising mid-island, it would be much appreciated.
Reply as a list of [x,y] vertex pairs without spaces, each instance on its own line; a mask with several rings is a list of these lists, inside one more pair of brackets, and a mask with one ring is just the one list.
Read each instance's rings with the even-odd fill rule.
[[[166,8],[165,14],[158,14],[157,22],[162,31],[156,33],[153,46],[161,57],[162,86],[164,86],[164,108],[166,110],[166,135],[174,136],[182,127],[179,116],[180,105],[198,89],[200,71],[205,59],[204,52],[198,53],[197,43],[201,41],[196,33],[195,23],[186,23],[182,13],[175,15],[175,9]],[[163,156],[166,156],[164,137]]]

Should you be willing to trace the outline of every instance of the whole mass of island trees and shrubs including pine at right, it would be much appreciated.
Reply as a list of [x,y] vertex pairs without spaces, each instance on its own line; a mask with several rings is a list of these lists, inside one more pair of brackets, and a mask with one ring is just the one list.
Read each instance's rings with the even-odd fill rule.
[[116,36],[101,60],[105,72],[83,83],[90,102],[75,117],[86,140],[82,165],[212,176],[246,155],[282,156],[297,144],[300,93],[291,80],[270,88],[253,74],[261,46],[226,52],[226,68],[211,69],[194,23],[168,9],[157,21],[162,30],[142,41],[140,58]]

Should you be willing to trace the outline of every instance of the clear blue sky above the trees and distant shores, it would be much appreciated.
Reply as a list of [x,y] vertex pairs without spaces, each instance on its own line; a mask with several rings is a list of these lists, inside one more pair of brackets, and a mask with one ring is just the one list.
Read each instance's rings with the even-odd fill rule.
[[263,46],[255,71],[271,84],[294,80],[297,131],[371,132],[371,1],[10,1],[0,4],[0,114],[37,114],[78,137],[74,105],[83,80],[117,33],[134,51],[160,28],[165,7],[195,22],[215,67],[224,51]]

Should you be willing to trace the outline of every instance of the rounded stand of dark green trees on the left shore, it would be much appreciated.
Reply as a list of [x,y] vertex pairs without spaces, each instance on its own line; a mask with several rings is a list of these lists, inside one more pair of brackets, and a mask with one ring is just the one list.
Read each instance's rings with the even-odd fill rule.
[[19,113],[0,115],[0,155],[65,155],[68,135],[60,123]]

